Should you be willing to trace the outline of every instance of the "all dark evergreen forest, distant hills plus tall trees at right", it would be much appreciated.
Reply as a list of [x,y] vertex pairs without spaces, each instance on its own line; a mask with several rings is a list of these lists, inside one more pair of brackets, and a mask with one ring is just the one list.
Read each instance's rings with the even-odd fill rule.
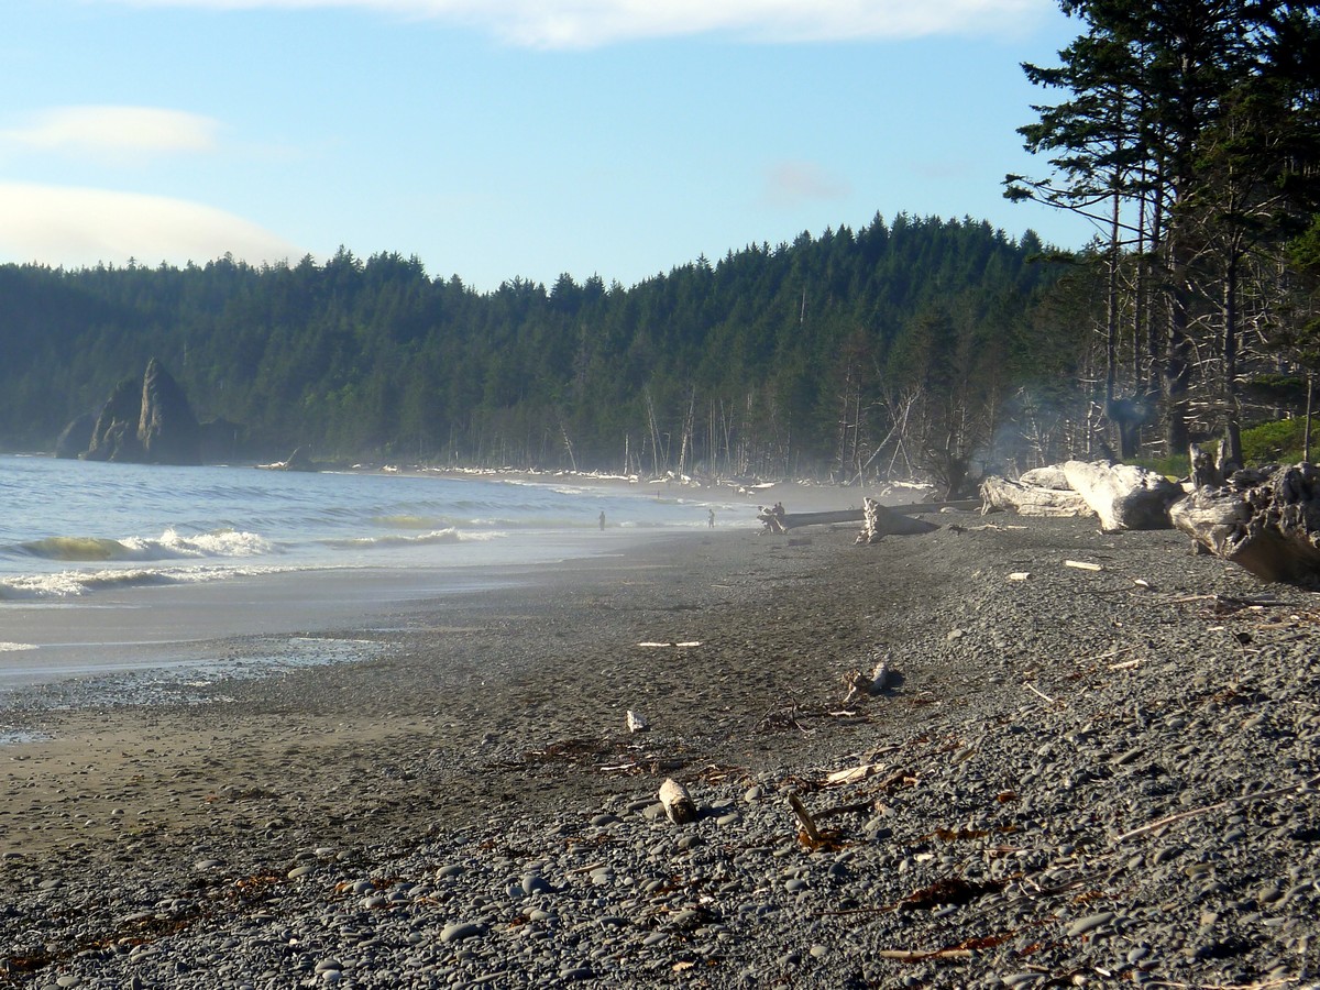
[[1060,0],[1078,25],[1005,195],[1063,251],[876,215],[634,286],[475,292],[416,257],[0,265],[0,447],[50,450],[158,358],[244,455],[841,483],[1185,454],[1309,413],[1320,367],[1320,13]]

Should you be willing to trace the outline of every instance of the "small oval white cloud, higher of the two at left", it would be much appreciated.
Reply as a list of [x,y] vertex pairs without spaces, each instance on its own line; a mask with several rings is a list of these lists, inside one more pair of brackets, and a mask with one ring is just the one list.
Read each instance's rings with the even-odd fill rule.
[[11,148],[99,158],[210,152],[219,123],[156,107],[54,107],[22,127],[0,131]]

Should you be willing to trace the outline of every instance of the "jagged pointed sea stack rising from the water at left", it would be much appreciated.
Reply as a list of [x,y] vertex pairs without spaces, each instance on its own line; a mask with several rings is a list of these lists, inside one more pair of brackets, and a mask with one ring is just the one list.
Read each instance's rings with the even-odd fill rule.
[[115,385],[90,429],[90,441],[75,449],[79,422],[75,420],[65,430],[57,451],[61,457],[152,465],[202,463],[202,428],[183,389],[156,358],[148,362],[140,384],[124,379]]

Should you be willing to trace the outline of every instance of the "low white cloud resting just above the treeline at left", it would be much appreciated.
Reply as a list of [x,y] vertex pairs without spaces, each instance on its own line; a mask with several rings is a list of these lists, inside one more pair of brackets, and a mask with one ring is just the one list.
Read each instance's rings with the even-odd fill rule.
[[252,264],[306,252],[240,216],[183,199],[0,182],[0,257],[53,267],[198,264],[232,252]]

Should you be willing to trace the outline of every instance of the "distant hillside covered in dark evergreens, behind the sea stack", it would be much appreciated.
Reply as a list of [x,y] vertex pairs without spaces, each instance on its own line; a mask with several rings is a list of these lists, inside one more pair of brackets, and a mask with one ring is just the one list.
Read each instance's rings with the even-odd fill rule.
[[[49,450],[150,356],[253,457],[850,479],[962,466],[1076,379],[1035,235],[879,216],[636,286],[477,293],[414,259],[0,267],[0,445]],[[1039,388],[1038,388],[1039,387]],[[1038,403],[1035,397],[1032,403]]]

